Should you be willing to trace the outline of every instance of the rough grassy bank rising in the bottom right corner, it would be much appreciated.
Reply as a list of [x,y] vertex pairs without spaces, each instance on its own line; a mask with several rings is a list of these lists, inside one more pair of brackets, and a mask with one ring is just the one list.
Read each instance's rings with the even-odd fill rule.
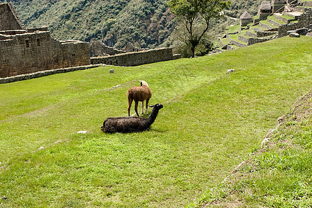
[[196,207],[311,207],[312,91],[281,118],[270,141]]

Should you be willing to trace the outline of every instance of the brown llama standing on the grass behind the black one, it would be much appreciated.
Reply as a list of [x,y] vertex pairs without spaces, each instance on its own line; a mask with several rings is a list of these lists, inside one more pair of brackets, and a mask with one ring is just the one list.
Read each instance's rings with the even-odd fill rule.
[[132,101],[135,101],[135,112],[137,116],[139,113],[137,112],[137,106],[139,105],[139,101],[142,102],[142,114],[144,114],[144,101],[146,100],[146,114],[148,114],[148,101],[152,97],[152,91],[146,81],[140,81],[141,86],[132,87],[128,90],[127,97],[128,97],[128,116],[130,116],[130,108],[132,105]]

